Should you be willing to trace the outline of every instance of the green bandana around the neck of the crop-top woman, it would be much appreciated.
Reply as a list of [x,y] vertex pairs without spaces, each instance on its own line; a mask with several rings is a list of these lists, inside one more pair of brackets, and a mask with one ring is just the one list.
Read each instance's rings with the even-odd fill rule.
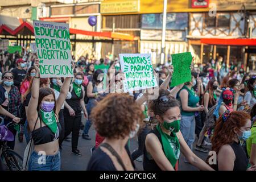
[[40,116],[42,117],[42,121],[44,124],[46,124],[47,127],[53,132],[57,132],[57,122],[55,118],[54,111],[52,110],[51,112],[45,112],[42,109],[40,110]]

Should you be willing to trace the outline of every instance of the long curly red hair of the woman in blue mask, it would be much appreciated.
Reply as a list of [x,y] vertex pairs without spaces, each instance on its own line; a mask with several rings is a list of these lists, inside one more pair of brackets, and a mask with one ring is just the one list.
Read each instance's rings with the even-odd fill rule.
[[212,150],[218,154],[222,146],[232,143],[236,136],[234,128],[240,129],[245,126],[247,119],[251,117],[245,111],[233,111],[225,122],[219,117],[214,127]]

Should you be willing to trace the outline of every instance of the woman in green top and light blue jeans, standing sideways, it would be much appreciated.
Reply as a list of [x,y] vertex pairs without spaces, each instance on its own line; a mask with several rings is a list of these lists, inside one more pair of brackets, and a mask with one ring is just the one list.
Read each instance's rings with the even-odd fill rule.
[[[180,131],[191,150],[195,141],[195,116],[199,114],[198,112],[204,111],[204,106],[199,106],[199,96],[197,96],[195,90],[192,88],[195,85],[196,78],[191,75],[191,81],[185,82],[183,88],[177,94],[182,108]],[[187,160],[184,160],[184,162],[187,162]]]

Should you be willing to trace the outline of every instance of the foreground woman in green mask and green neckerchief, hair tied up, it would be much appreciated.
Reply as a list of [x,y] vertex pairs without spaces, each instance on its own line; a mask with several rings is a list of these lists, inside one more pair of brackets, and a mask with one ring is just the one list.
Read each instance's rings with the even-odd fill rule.
[[150,101],[150,109],[154,111],[158,121],[156,129],[147,134],[145,140],[143,168],[148,171],[174,171],[180,158],[180,152],[188,162],[201,170],[213,170],[197,157],[180,132],[180,104],[170,96],[167,90],[159,90],[159,97]]

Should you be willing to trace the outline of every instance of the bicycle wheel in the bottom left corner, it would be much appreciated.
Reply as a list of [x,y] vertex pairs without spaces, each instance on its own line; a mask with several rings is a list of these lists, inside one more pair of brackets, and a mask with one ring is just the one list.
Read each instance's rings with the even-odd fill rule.
[[[6,169],[9,171],[21,171],[23,158],[12,150],[6,151],[6,156],[1,155],[1,160],[5,165]],[[6,161],[7,160],[7,161]]]

